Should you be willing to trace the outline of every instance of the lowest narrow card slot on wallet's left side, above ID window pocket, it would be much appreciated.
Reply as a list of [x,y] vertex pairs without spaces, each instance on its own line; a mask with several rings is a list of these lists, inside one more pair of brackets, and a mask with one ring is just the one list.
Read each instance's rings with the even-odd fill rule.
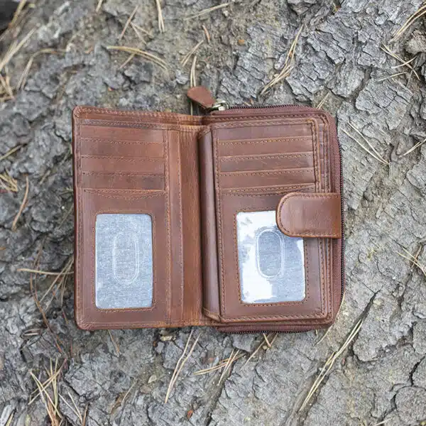
[[164,190],[159,174],[81,172],[82,187],[123,190]]

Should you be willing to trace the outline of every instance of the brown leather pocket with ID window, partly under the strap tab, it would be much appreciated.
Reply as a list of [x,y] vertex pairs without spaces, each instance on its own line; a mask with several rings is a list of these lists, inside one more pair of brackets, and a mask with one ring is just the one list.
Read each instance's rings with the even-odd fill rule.
[[321,320],[329,314],[320,239],[285,236],[283,194],[224,193],[219,204],[222,322]]

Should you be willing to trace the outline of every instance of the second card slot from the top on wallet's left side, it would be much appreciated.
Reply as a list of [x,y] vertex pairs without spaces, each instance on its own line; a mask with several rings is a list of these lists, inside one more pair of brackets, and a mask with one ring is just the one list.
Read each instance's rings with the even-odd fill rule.
[[162,143],[149,141],[82,138],[81,153],[82,155],[117,155],[129,158],[163,158],[164,146]]

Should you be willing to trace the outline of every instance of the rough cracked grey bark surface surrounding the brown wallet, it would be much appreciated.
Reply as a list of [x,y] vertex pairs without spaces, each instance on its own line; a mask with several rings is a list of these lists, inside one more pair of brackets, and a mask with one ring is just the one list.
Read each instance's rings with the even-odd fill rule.
[[[133,22],[152,33],[145,44],[129,27],[121,44],[139,46],[164,58],[158,66],[112,53],[136,0],[40,0],[28,9],[18,39],[37,30],[9,64],[12,86],[31,55],[42,48],[24,89],[0,104],[0,155],[21,149],[0,162],[0,173],[18,180],[17,193],[0,194],[0,425],[50,424],[43,400],[31,405],[35,382],[50,359],[66,359],[58,376],[64,400],[63,423],[80,425],[420,425],[426,420],[425,275],[398,252],[417,253],[426,236],[426,40],[422,20],[391,43],[411,62],[407,67],[381,50],[420,6],[421,0],[236,1],[204,18],[185,21],[210,0],[165,0],[165,33],[159,33],[155,1],[140,2]],[[60,271],[73,252],[71,111],[87,104],[121,109],[188,112],[185,90],[190,60],[180,60],[204,38],[197,51],[197,82],[207,84],[230,104],[302,103],[337,117],[344,163],[346,205],[346,294],[337,323],[323,332],[283,334],[261,349],[243,369],[239,359],[219,383],[220,373],[193,376],[200,368],[240,349],[249,354],[260,335],[229,336],[213,329],[201,334],[167,404],[171,373],[189,329],[82,332],[72,320],[72,277],[61,291],[43,300],[49,327],[35,305],[30,275],[18,268]],[[302,26],[295,68],[266,96],[258,94],[285,62]],[[6,50],[10,35],[3,40]],[[395,72],[404,75],[383,77]],[[389,161],[378,162],[343,130],[371,142]],[[363,142],[364,145],[366,144]],[[11,230],[29,178],[28,202]],[[41,297],[52,276],[35,278]],[[52,302],[46,307],[47,302]],[[339,349],[354,324],[361,330],[334,364],[306,408],[300,410],[315,377]],[[58,345],[55,337],[58,338]],[[59,351],[60,346],[61,351]],[[248,356],[248,355],[247,355]],[[130,391],[129,391],[130,390]],[[33,394],[34,395],[34,394]],[[8,423],[8,421],[11,421]]]

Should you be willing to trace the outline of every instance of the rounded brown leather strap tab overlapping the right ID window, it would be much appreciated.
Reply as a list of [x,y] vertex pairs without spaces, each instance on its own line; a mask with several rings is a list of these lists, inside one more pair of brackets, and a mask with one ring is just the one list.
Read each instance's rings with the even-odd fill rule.
[[277,224],[288,236],[342,238],[340,194],[290,192],[278,204]]

